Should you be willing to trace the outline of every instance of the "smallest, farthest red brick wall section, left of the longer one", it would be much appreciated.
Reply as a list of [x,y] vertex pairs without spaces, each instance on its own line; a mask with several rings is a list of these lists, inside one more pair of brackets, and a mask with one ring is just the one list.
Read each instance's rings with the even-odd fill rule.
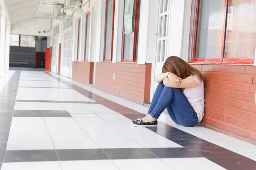
[[93,83],[94,62],[73,62],[72,79],[84,84]]

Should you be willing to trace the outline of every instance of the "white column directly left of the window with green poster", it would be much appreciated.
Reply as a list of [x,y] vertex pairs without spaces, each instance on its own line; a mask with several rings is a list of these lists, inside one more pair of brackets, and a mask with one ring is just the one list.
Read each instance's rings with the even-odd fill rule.
[[[113,58],[114,63],[121,62],[122,31],[124,18],[124,0],[116,0],[114,17]],[[135,4],[134,4],[135,5]]]

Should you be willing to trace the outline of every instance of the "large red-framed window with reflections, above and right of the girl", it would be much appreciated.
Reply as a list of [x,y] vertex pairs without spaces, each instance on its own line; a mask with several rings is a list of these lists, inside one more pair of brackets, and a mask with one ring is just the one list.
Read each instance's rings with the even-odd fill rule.
[[193,61],[253,63],[256,50],[256,0],[194,2],[197,14]]

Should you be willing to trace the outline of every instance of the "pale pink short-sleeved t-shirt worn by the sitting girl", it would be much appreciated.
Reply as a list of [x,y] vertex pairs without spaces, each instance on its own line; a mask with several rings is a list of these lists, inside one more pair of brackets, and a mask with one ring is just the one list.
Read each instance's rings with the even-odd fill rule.
[[185,88],[183,93],[197,113],[198,122],[200,122],[204,117],[204,82],[200,81],[195,75],[189,76],[188,78],[194,79],[198,83],[198,86],[195,88]]

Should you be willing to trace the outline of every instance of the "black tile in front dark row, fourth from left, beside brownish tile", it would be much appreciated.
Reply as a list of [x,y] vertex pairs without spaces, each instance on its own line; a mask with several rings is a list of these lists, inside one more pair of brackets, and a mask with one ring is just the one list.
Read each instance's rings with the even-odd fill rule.
[[202,157],[184,147],[174,148],[147,148],[158,158],[198,158]]

